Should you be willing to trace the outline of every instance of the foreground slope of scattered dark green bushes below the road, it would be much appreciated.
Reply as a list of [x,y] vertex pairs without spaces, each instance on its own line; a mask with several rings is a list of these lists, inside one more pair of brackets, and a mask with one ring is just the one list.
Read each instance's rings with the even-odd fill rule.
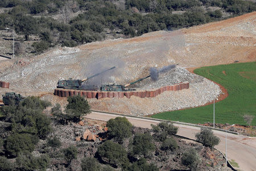
[[[177,127],[172,123],[142,129],[117,117],[105,123],[104,131],[101,126],[97,131],[91,126],[98,139],[89,140],[89,135],[85,137],[88,124],[80,123],[84,123],[81,116],[90,112],[87,101],[79,95],[69,97],[64,113],[62,110],[59,104],[52,106],[34,96],[0,108],[0,170],[229,170],[221,154],[207,147],[218,144],[213,134],[199,139],[207,141],[203,147],[175,136]],[[65,115],[69,119],[60,122]],[[85,128],[77,140],[76,132]],[[216,161],[218,165],[209,165]]]

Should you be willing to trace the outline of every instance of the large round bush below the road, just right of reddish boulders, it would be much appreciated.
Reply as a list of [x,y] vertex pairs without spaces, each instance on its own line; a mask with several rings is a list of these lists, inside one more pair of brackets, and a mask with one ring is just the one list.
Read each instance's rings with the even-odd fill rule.
[[109,119],[106,126],[108,127],[110,137],[114,138],[119,143],[122,143],[124,138],[128,138],[132,135],[132,125],[125,117]]

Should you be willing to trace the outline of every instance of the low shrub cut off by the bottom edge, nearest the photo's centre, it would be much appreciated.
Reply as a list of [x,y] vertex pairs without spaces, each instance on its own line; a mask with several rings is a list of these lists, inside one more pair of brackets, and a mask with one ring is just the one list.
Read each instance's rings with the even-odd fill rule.
[[132,164],[129,171],[158,171],[154,164],[147,164],[147,160],[142,158]]

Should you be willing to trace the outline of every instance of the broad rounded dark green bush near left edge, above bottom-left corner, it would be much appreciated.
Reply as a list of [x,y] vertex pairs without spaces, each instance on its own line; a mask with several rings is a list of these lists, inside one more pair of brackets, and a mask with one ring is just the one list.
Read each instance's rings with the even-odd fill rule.
[[29,134],[14,134],[6,138],[4,147],[7,155],[15,157],[20,152],[32,152],[37,142]]

